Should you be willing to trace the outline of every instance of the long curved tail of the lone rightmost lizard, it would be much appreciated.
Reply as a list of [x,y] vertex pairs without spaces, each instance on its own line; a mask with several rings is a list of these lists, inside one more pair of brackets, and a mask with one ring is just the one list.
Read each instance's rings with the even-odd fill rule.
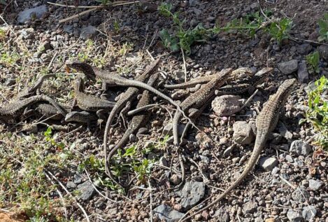
[[[257,134],[257,139],[255,141],[255,147],[252,151],[252,155],[250,155],[250,160],[248,160],[248,163],[246,164],[245,168],[243,169],[243,172],[238,177],[238,179],[236,179],[236,181],[234,181],[234,183],[231,183],[231,185],[227,188],[227,190],[225,190],[218,198],[216,198],[213,202],[211,202],[211,204],[206,205],[206,207],[204,207],[203,209],[199,209],[197,212],[195,212],[194,214],[192,214],[190,216],[187,216],[184,219],[180,218],[179,222],[186,221],[187,219],[192,218],[192,216],[194,216],[196,214],[200,214],[205,209],[208,209],[208,208],[212,207],[213,205],[217,204],[218,202],[220,202],[225,196],[227,196],[231,192],[231,190],[234,190],[234,188],[236,188],[236,186],[238,186],[243,181],[243,179],[245,179],[245,177],[249,174],[249,172],[255,166],[257,159],[259,158],[259,154],[261,153],[262,148],[264,147],[264,144],[261,142],[262,142],[261,134]],[[188,212],[185,215],[187,215]]]

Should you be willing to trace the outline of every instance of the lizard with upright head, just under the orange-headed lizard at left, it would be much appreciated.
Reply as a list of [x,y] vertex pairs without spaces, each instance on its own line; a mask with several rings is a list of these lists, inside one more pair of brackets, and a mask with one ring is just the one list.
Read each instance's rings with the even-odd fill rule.
[[110,102],[106,99],[101,99],[94,95],[87,95],[84,92],[84,83],[82,78],[76,78],[74,82],[74,92],[78,107],[85,111],[98,111],[99,109],[113,109],[115,102]]

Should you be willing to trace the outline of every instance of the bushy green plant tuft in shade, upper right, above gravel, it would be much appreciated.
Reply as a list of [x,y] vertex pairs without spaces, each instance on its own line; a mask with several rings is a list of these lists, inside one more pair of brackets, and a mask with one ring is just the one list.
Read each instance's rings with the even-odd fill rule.
[[273,39],[281,43],[283,39],[290,37],[290,29],[292,29],[292,20],[283,18],[278,22],[272,22],[266,31],[269,32]]

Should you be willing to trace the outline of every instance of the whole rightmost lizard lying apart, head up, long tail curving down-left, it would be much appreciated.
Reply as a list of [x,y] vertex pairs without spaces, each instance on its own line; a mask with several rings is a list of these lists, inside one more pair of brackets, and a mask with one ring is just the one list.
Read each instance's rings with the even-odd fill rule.
[[[180,218],[180,221],[186,221],[187,219],[191,218],[192,216],[201,213],[210,207],[213,207],[216,203],[220,202],[228,193],[231,192],[236,186],[239,185],[245,179],[245,177],[249,174],[249,172],[255,167],[257,159],[259,158],[259,154],[264,149],[266,144],[266,140],[269,137],[269,134],[276,128],[278,123],[280,111],[283,110],[285,103],[287,102],[287,98],[290,96],[294,86],[296,85],[297,81],[295,78],[287,79],[280,85],[276,94],[272,95],[269,98],[269,101],[266,102],[262,111],[259,112],[259,115],[256,118],[256,127],[257,133],[255,138],[255,145],[250,155],[250,159],[248,163],[245,165],[243,172],[241,175],[231,183],[231,185],[225,190],[218,198],[216,198],[211,204],[206,205],[202,209],[199,209],[197,212],[188,216],[186,218]],[[187,212],[188,213],[188,212]],[[186,215],[186,214],[185,214]],[[181,221],[182,222],[182,221]]]

